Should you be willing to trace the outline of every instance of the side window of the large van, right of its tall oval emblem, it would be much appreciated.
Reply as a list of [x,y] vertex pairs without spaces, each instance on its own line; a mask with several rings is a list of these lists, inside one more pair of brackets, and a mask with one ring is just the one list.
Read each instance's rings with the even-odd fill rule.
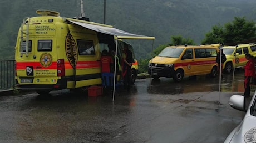
[[79,55],[95,55],[95,48],[92,40],[77,39]]

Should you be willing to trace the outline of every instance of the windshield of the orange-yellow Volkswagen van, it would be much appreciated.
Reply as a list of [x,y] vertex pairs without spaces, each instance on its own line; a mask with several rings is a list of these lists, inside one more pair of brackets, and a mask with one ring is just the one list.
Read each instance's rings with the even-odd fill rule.
[[164,50],[161,51],[158,56],[161,57],[168,57],[168,58],[179,58],[180,54],[183,52],[184,48],[168,48],[166,47]]

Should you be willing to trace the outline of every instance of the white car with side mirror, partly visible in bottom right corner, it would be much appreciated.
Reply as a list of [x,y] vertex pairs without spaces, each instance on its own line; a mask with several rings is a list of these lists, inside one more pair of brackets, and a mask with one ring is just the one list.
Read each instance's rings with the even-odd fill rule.
[[252,97],[248,110],[245,110],[245,99],[242,95],[232,95],[229,105],[237,110],[246,111],[243,121],[235,127],[224,143],[256,143],[256,105],[255,95]]

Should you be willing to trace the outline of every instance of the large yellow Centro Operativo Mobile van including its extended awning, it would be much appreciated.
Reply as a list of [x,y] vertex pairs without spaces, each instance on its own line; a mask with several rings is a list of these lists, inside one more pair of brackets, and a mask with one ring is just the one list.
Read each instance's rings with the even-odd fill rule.
[[[86,18],[64,18],[49,10],[36,12],[41,16],[24,18],[18,31],[15,60],[20,89],[48,93],[100,85],[100,44],[115,46],[120,38],[154,39]],[[109,50],[116,52],[115,47]]]

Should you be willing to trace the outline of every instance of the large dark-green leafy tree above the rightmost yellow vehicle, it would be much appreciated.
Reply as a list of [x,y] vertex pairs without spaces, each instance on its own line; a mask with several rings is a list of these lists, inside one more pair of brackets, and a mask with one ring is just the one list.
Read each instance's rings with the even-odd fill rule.
[[211,32],[205,34],[202,44],[243,42],[256,37],[255,22],[245,20],[245,17],[234,17],[230,23],[214,25]]

